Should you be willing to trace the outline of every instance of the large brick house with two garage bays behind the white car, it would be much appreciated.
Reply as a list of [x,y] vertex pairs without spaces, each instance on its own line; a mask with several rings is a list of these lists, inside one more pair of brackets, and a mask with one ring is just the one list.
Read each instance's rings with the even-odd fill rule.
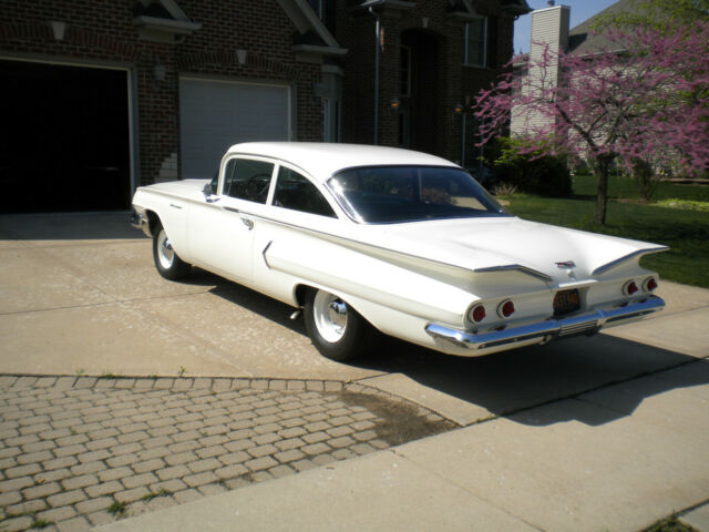
[[125,209],[140,184],[213,176],[234,143],[371,144],[376,121],[381,144],[470,160],[462,106],[508,61],[528,11],[525,0],[0,0],[0,212]]

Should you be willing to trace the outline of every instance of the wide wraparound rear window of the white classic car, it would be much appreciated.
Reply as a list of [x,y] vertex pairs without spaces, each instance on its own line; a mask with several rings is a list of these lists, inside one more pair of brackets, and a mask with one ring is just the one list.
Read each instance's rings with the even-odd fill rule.
[[328,186],[348,214],[364,223],[507,216],[495,198],[459,168],[350,168],[330,177]]

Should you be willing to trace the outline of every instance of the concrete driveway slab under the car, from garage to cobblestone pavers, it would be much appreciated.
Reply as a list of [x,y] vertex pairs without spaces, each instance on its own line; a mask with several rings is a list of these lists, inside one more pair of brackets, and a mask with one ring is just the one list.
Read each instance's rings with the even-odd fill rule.
[[367,379],[467,424],[709,354],[709,290],[662,283],[668,308],[607,335],[474,359],[392,340],[343,365],[291,307],[193,272],[160,277],[125,213],[0,217],[0,372]]

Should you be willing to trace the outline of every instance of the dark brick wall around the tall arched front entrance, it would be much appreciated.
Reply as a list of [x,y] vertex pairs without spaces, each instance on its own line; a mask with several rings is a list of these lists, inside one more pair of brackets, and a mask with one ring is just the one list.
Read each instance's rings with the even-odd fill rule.
[[[339,44],[349,49],[343,60],[343,131],[345,142],[371,143],[374,105],[374,17],[366,11],[348,10],[346,0],[338,1],[337,34]],[[433,108],[433,143],[428,151],[459,161],[461,155],[460,116],[456,103],[473,101],[480,89],[487,86],[500,68],[512,57],[514,19],[500,9],[496,0],[477,0],[479,13],[497,23],[497,61],[492,68],[476,69],[463,64],[464,20],[449,17],[443,0],[418,0],[413,9],[386,8],[382,12],[384,48],[380,55],[379,137],[384,145],[399,143],[399,116],[389,104],[400,96],[400,47],[402,33],[410,39],[433,39],[436,44],[435,74],[424,83],[434,84],[428,91],[435,98],[418,102]],[[492,19],[494,17],[494,19]],[[405,105],[405,99],[401,99]],[[413,146],[417,147],[417,146]]]

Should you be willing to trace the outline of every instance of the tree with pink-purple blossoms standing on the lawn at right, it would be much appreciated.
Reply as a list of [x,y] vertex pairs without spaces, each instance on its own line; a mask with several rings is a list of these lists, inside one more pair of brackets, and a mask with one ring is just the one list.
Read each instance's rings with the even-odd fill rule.
[[534,75],[504,74],[475,104],[483,144],[514,114],[528,122],[520,150],[585,158],[597,177],[600,224],[614,162],[628,170],[709,167],[709,24],[613,29],[604,39],[586,55],[544,48],[528,60]]

